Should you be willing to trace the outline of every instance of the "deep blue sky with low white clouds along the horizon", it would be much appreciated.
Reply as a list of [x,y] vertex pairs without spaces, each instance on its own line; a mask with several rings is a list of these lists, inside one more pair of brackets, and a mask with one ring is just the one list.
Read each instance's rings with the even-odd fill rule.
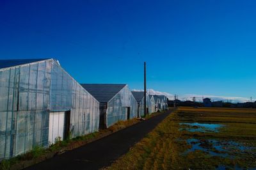
[[77,81],[256,98],[255,1],[0,1],[0,59],[56,58]]

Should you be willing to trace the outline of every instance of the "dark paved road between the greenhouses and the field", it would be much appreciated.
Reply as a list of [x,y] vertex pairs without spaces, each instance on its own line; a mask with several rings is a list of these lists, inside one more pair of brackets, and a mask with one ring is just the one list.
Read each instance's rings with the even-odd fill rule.
[[141,121],[92,143],[67,151],[27,169],[100,169],[106,167],[138,143],[171,111]]

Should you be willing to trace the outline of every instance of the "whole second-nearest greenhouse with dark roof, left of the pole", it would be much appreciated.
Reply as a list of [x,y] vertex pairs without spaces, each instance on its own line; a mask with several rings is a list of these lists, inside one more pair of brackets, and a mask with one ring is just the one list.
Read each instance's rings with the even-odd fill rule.
[[100,128],[135,118],[138,104],[127,84],[81,84],[100,102]]

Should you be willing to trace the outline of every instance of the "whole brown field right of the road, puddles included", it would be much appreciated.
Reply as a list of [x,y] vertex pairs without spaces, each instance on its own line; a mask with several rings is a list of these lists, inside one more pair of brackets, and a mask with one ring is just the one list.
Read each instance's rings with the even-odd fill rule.
[[256,169],[256,109],[180,107],[106,169]]

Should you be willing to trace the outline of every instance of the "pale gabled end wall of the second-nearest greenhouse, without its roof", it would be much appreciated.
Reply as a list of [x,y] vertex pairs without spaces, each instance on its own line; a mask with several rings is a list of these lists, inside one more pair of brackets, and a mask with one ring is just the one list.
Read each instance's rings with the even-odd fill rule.
[[126,85],[121,89],[115,97],[108,102],[108,108],[106,112],[107,125],[110,127],[120,120],[127,120],[127,108],[130,108],[130,119],[136,118],[138,111],[138,104],[133,97],[131,91]]

